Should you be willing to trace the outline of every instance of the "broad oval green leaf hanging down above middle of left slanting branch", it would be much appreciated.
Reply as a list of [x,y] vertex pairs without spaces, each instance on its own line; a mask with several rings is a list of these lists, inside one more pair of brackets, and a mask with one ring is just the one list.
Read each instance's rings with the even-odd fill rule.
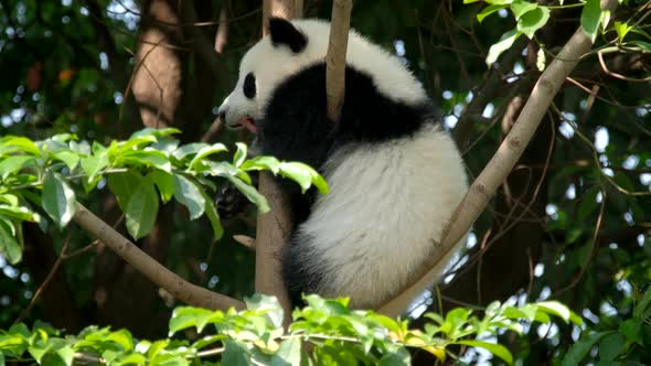
[[158,216],[158,195],[150,176],[140,180],[129,198],[125,214],[127,230],[134,239],[140,239],[151,230]]

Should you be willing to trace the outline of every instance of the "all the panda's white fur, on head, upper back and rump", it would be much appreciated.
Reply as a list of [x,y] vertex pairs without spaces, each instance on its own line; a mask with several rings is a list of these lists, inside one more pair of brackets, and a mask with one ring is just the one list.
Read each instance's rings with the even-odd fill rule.
[[[282,97],[277,88],[323,63],[330,24],[318,20],[291,23],[307,44],[292,52],[266,36],[250,49],[242,60],[235,89],[220,109],[228,126],[250,118],[265,128],[269,104]],[[406,108],[428,104],[420,83],[397,57],[354,31],[349,35],[346,64],[369,76],[388,103]],[[249,73],[256,79],[255,98],[242,92]],[[344,103],[354,103],[354,96],[348,98]],[[301,108],[300,103],[296,108]],[[375,120],[380,128],[402,122]],[[300,121],[295,123],[300,126]],[[373,122],[364,126],[372,129]],[[463,163],[449,134],[427,120],[414,126],[413,132],[396,137],[387,128],[388,134],[372,142],[365,131],[360,131],[363,138],[345,143],[334,138],[322,164],[314,166],[324,175],[330,193],[310,203],[309,215],[295,229],[292,252],[285,257],[302,266],[300,276],[294,276],[305,277],[299,284],[324,297],[351,297],[353,306],[375,308],[412,280],[467,191]],[[305,154],[309,153],[306,149]],[[301,158],[301,150],[287,157]],[[312,161],[306,158],[306,162]]]

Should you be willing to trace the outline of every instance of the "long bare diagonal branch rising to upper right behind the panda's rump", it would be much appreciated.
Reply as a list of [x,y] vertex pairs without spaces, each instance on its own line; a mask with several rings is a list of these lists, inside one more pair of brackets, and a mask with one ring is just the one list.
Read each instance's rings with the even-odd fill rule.
[[[617,1],[602,0],[601,8],[613,11],[617,8]],[[431,284],[445,265],[445,259],[450,256],[456,244],[483,212],[497,189],[522,155],[565,78],[576,67],[580,57],[590,51],[591,45],[593,42],[581,29],[578,29],[565,44],[554,62],[541,75],[513,129],[452,214],[450,224],[441,236],[440,245],[433,248],[431,255],[425,260],[418,274],[414,277],[415,280],[380,308],[381,313],[389,316],[398,315],[412,299]]]

